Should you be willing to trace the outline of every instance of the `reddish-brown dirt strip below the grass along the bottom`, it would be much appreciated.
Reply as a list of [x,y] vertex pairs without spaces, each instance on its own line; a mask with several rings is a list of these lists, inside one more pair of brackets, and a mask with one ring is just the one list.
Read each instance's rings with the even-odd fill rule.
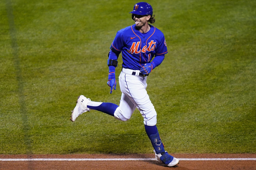
[[[75,155],[0,155],[0,170],[68,170],[68,169],[175,169],[175,170],[255,170],[256,160],[191,160],[193,158],[256,158],[256,154],[172,154],[180,160],[176,167],[166,167],[156,160],[104,160],[154,158],[154,154],[75,154]],[[71,159],[71,160],[30,160],[30,159]],[[14,161],[13,159],[26,159]],[[29,160],[27,160],[29,159]],[[103,159],[103,160],[72,160]],[[189,160],[184,160],[189,159]]]

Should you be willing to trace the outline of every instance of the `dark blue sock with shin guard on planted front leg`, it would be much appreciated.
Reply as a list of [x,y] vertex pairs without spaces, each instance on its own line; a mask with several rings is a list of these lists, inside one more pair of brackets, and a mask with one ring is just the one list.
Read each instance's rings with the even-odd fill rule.
[[154,125],[154,126],[144,125],[144,126],[145,126],[146,133],[151,141],[151,144],[152,144],[153,148],[155,149],[156,154],[164,153],[165,149],[164,149],[163,143],[160,139],[160,136],[159,136],[159,133],[157,130],[157,126],[156,125]]

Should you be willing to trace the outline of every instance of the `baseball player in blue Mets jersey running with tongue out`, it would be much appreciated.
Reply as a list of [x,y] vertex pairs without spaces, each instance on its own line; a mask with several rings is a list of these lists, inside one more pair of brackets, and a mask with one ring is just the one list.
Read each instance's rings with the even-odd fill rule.
[[156,160],[172,167],[177,165],[179,160],[164,149],[156,126],[157,113],[146,91],[147,76],[162,63],[167,53],[165,37],[159,29],[149,24],[155,22],[153,8],[149,3],[135,4],[130,13],[135,24],[117,32],[107,60],[107,84],[111,94],[113,89],[116,90],[115,68],[118,65],[118,56],[122,52],[122,71],[119,75],[122,96],[119,106],[114,103],[91,101],[81,95],[70,120],[75,121],[80,114],[93,109],[114,116],[118,120],[127,121],[137,108],[143,116],[145,130],[154,148]]

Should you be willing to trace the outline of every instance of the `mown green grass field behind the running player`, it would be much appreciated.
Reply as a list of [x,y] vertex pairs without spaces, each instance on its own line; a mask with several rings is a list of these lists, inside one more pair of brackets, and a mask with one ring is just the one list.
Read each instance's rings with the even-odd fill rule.
[[[256,153],[255,1],[148,2],[168,48],[147,79],[166,150]],[[135,3],[0,2],[0,154],[153,153],[137,110],[69,120],[81,94],[119,104],[107,54]]]

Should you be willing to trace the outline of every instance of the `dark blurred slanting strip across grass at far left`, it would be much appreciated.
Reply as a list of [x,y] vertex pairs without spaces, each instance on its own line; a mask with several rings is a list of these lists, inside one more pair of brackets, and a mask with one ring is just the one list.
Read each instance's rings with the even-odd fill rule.
[[10,38],[11,38],[11,47],[13,50],[13,61],[14,61],[14,67],[16,71],[16,78],[18,82],[18,95],[19,95],[19,105],[20,105],[20,112],[22,113],[22,125],[23,125],[23,132],[24,132],[24,141],[26,144],[26,154],[31,154],[31,142],[30,142],[30,135],[29,130],[30,126],[28,124],[27,120],[27,111],[26,111],[26,102],[25,97],[23,95],[23,79],[22,79],[22,73],[21,73],[21,67],[20,67],[20,58],[18,54],[18,44],[17,44],[17,33],[15,29],[15,23],[14,23],[14,16],[13,16],[13,8],[12,4],[9,0],[6,0],[6,11],[7,11],[7,17],[9,21],[9,32],[10,32]]

